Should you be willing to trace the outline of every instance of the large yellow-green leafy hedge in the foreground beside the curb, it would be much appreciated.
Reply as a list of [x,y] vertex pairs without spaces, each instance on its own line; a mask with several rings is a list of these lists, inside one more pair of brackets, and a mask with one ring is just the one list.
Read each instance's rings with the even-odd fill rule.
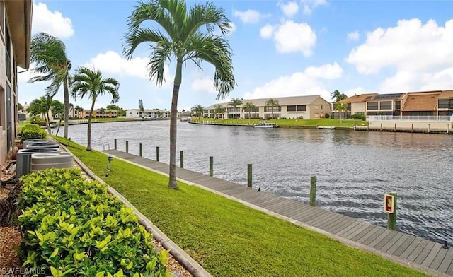
[[25,175],[19,207],[23,266],[43,266],[53,276],[169,276],[168,251],[156,254],[132,209],[79,170]]

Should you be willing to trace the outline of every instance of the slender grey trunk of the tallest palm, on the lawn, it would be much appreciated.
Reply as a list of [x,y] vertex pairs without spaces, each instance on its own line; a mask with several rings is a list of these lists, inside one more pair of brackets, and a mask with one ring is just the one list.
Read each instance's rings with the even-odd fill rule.
[[170,113],[170,168],[168,176],[168,187],[179,189],[176,183],[176,116],[178,115],[178,95],[182,81],[183,61],[178,59],[176,62],[175,81],[173,82],[173,97],[171,98]]

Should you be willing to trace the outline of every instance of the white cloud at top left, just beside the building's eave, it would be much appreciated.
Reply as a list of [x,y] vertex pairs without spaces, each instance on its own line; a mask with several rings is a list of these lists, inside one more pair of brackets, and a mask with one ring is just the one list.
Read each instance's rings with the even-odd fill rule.
[[32,33],[45,32],[55,37],[67,38],[74,35],[71,18],[59,11],[49,11],[44,3],[33,4]]

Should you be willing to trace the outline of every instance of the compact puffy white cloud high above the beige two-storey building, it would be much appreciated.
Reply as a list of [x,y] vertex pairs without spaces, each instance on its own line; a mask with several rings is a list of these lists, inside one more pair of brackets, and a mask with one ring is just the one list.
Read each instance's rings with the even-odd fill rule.
[[280,53],[302,52],[305,57],[309,57],[316,44],[316,34],[307,23],[286,20],[281,25],[273,26],[272,30],[269,25],[261,28],[261,37],[269,38],[270,34],[277,52]]

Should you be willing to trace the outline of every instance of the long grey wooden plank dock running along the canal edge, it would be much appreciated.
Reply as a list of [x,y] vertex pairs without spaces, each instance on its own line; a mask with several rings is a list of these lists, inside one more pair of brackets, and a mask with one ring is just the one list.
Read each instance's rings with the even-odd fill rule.
[[[117,150],[103,151],[131,163],[168,175],[168,165]],[[315,208],[299,201],[240,184],[176,168],[176,176],[188,184],[197,184],[217,194],[266,211],[270,214],[316,230],[352,247],[379,254],[386,259],[437,276],[453,276],[453,246],[443,245],[403,232],[391,231],[356,218]]]

